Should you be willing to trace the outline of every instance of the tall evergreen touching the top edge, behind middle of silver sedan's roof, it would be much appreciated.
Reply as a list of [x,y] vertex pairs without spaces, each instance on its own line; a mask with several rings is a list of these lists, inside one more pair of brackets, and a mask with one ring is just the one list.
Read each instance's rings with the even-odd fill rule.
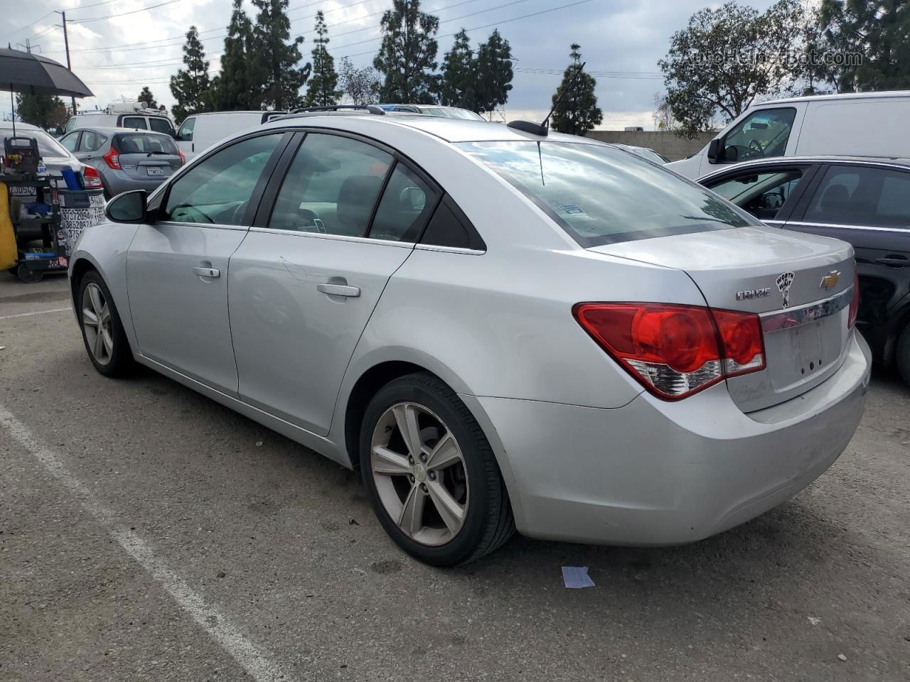
[[437,16],[420,11],[420,0],[393,0],[382,15],[382,45],[373,65],[383,74],[379,99],[385,102],[433,104],[439,90],[436,70]]

